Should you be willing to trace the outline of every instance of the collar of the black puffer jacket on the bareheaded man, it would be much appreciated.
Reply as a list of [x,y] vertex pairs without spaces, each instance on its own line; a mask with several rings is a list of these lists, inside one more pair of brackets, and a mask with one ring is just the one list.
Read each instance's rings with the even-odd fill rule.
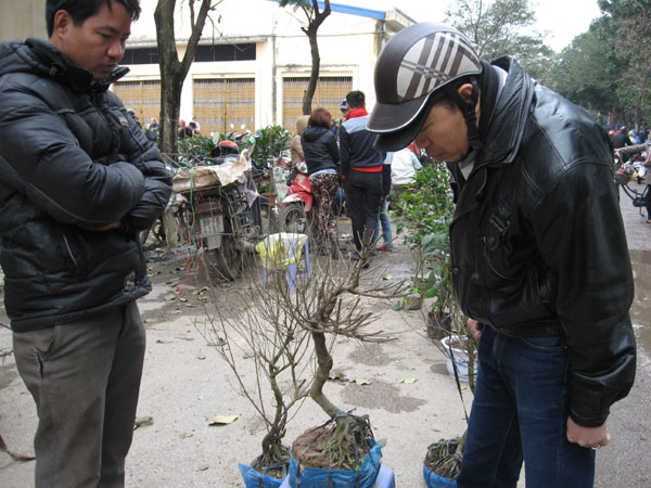
[[76,92],[103,92],[108,86],[127,73],[129,68],[117,66],[101,80],[94,80],[92,74],[82,67],[69,63],[65,55],[50,42],[34,37],[28,38],[25,44],[28,49],[16,49],[21,60],[39,74],[69,87]]

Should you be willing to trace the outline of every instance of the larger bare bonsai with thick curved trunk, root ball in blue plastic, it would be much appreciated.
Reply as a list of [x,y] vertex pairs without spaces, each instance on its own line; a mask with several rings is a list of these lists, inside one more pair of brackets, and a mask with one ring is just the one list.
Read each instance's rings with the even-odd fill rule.
[[329,257],[316,264],[311,279],[295,292],[289,287],[278,288],[288,314],[295,318],[311,338],[317,364],[309,396],[327,415],[324,424],[308,429],[294,441],[288,480],[291,487],[370,487],[381,468],[382,454],[368,416],[345,411],[324,393],[333,368],[328,336],[387,341],[381,332],[367,332],[374,317],[363,307],[361,296],[388,299],[399,296],[404,290],[403,283],[384,287],[375,281],[362,284],[363,260],[365,256],[350,265]]

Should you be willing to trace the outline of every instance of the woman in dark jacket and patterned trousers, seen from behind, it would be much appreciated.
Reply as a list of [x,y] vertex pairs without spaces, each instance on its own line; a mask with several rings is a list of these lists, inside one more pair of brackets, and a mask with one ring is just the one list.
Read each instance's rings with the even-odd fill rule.
[[339,147],[330,127],[332,116],[326,108],[317,108],[309,116],[301,136],[307,174],[315,198],[317,223],[317,253],[339,257],[336,217],[333,211],[339,188]]

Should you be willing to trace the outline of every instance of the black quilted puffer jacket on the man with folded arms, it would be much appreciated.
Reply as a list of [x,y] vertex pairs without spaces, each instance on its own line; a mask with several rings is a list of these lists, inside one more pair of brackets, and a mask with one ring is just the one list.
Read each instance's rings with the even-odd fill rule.
[[[156,146],[106,91],[38,39],[0,46],[0,261],[16,332],[151,290],[137,232],[171,190]],[[119,230],[98,231],[108,223]]]

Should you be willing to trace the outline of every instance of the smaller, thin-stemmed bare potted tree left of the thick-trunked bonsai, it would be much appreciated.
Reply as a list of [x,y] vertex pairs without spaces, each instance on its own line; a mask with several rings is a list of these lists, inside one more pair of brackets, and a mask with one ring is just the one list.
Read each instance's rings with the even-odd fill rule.
[[[210,295],[210,301],[215,311],[208,314],[208,344],[230,367],[238,389],[266,427],[261,452],[248,464],[241,463],[240,472],[247,488],[280,486],[289,472],[290,449],[283,445],[286,425],[309,394],[309,378],[302,376],[305,361],[310,360],[307,332],[284,313],[275,287],[259,281],[252,280],[246,293],[243,288],[240,304],[222,304],[217,294]],[[253,363],[254,382],[246,382],[242,373],[246,361]]]

